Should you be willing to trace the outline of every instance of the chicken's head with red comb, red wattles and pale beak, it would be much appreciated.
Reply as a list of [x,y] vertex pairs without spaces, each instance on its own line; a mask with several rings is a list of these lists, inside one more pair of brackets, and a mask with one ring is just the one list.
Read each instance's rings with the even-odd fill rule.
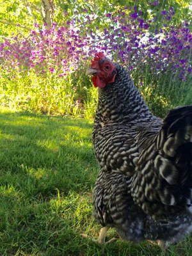
[[92,60],[92,65],[86,74],[93,75],[92,81],[95,87],[104,88],[106,84],[115,81],[116,66],[102,52],[99,52]]

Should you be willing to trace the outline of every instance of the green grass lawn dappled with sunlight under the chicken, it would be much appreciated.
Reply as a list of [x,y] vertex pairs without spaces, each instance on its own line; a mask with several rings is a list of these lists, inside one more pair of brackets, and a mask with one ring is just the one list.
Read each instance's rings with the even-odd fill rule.
[[[156,244],[99,246],[92,120],[0,112],[0,255],[161,255]],[[117,236],[109,230],[108,239]],[[192,255],[191,238],[167,255]]]

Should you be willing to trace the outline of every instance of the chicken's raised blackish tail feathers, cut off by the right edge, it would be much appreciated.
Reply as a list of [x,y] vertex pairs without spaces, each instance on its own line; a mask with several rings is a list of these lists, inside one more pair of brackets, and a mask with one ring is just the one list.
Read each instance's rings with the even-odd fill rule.
[[192,106],[168,113],[156,143],[159,156],[155,164],[159,163],[159,173],[171,190],[177,191],[175,202],[192,205]]

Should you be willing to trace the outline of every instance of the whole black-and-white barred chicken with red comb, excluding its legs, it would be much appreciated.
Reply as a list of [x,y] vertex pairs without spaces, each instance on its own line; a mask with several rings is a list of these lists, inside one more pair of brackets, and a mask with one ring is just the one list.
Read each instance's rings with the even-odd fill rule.
[[192,106],[162,121],[120,65],[98,54],[89,73],[100,87],[93,216],[127,240],[178,241],[192,230]]

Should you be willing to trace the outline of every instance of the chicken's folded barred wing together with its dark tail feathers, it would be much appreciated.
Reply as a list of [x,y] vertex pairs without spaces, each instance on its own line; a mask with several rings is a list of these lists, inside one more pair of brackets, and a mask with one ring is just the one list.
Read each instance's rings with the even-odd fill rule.
[[132,179],[135,204],[156,220],[184,209],[192,214],[192,106],[170,111],[148,141]]

